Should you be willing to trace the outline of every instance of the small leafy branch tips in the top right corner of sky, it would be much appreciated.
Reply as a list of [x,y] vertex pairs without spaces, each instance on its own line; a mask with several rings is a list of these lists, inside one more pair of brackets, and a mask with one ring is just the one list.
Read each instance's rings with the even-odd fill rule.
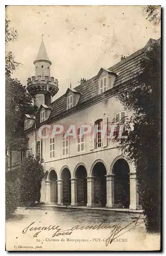
[[154,24],[160,24],[161,22],[161,7],[158,5],[148,5],[143,7],[143,10],[147,13],[147,19]]

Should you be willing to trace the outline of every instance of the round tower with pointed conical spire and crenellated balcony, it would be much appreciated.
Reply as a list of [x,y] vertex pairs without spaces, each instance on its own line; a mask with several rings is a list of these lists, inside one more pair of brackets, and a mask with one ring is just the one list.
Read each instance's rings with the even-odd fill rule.
[[27,78],[27,91],[34,97],[34,105],[49,105],[59,91],[58,80],[50,76],[51,61],[48,58],[43,37],[38,55],[34,61],[35,76]]

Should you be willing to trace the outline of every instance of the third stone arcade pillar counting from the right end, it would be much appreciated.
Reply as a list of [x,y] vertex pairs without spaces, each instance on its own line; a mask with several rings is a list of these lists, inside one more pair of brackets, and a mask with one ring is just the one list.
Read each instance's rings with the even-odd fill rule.
[[87,207],[95,207],[94,204],[94,178],[95,177],[87,177]]

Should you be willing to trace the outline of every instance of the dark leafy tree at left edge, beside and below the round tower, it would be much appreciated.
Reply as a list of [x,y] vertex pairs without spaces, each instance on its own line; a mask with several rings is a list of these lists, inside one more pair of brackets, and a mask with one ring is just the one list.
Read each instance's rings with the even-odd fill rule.
[[19,132],[23,130],[24,114],[34,114],[38,110],[32,102],[32,96],[19,80],[6,78],[6,146],[11,151],[26,146],[27,138],[19,136]]

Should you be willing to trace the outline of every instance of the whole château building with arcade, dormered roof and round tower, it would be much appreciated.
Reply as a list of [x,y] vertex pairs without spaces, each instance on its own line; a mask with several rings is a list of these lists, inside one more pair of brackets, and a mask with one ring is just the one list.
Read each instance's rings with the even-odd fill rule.
[[[27,79],[27,91],[34,97],[39,111],[36,116],[25,115],[22,133],[29,138],[27,150],[13,152],[9,165],[9,169],[16,169],[29,154],[39,154],[44,159],[47,175],[41,184],[40,202],[141,208],[134,164],[122,155],[119,140],[110,139],[107,131],[114,119],[123,124],[124,117],[132,115],[124,110],[115,96],[120,90],[135,86],[140,60],[153,41],[150,39],[144,48],[126,58],[121,57],[113,67],[101,67],[91,79],[81,79],[79,86],[68,88],[64,95],[52,102],[59,84],[57,78],[51,76],[51,61],[42,38],[34,61],[35,76]],[[88,132],[85,128],[85,134],[79,136],[82,125],[92,130]],[[54,127],[59,127],[59,134],[52,136],[50,131]],[[63,131],[60,131],[61,127]],[[75,129],[76,138],[71,134],[65,136],[69,127],[72,127],[71,134]],[[94,127],[97,127],[96,134]],[[104,136],[102,127],[107,128]]]

